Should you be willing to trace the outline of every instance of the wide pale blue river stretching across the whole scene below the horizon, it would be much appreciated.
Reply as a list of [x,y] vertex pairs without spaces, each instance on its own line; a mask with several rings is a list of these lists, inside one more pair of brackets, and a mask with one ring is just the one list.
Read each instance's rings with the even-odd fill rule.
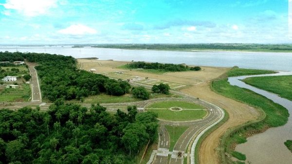
[[72,46],[20,47],[0,46],[0,51],[39,52],[70,55],[74,58],[97,57],[101,60],[146,61],[292,71],[292,53],[234,51],[162,51],[102,48],[72,48]]

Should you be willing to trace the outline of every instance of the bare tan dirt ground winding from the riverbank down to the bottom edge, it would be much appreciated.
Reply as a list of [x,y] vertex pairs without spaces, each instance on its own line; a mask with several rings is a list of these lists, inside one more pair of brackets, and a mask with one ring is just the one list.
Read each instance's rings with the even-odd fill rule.
[[[106,73],[121,71],[123,69],[117,69],[116,66],[125,65],[128,62],[78,59],[78,63],[81,69],[89,70],[93,68],[96,69],[96,73]],[[229,128],[256,120],[260,114],[256,109],[230,98],[225,98],[210,89],[210,81],[218,78],[230,68],[206,66],[202,66],[201,68],[201,71],[169,72],[164,74],[151,74],[132,70],[124,72],[124,74],[188,85],[187,88],[180,91],[224,108],[229,114],[228,121],[206,137],[201,144],[199,155],[201,164],[219,164],[219,156],[216,148],[218,147],[219,138],[222,134]]]

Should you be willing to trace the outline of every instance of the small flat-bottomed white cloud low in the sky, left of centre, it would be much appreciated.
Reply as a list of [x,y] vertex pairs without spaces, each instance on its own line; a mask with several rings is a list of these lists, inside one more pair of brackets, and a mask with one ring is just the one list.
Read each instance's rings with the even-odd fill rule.
[[84,26],[82,24],[74,24],[66,29],[59,30],[58,33],[67,35],[86,35],[86,34],[96,34],[97,31],[90,27]]

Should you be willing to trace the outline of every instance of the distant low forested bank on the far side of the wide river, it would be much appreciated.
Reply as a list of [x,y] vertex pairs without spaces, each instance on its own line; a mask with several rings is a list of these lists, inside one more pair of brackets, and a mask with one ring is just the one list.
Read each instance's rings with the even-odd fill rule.
[[114,49],[161,49],[161,50],[251,50],[251,51],[292,51],[291,44],[241,44],[241,43],[208,43],[208,44],[99,44],[91,47]]

